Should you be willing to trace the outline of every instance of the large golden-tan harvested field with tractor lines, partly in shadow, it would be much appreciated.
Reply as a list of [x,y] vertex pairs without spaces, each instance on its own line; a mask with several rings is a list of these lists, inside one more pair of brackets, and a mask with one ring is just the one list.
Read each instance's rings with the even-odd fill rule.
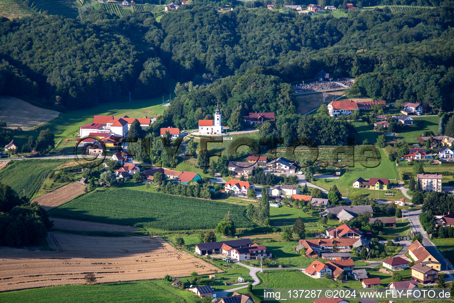
[[84,237],[48,234],[55,251],[0,249],[0,292],[54,285],[84,284],[94,273],[97,283],[161,279],[215,273],[211,264],[172,248],[160,237]]

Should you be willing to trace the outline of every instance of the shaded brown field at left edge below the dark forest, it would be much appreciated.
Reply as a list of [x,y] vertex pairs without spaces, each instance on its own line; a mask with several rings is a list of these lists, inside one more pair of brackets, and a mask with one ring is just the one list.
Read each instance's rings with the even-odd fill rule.
[[43,109],[21,99],[0,97],[0,120],[6,121],[9,129],[21,127],[23,130],[30,130],[58,117],[59,114],[58,111]]

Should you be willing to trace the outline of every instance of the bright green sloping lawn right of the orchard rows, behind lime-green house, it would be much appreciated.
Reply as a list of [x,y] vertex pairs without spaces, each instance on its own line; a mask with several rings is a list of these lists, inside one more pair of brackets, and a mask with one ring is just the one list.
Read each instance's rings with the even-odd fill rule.
[[[366,194],[380,195],[384,194],[384,190],[374,190],[374,189],[353,189],[352,184],[358,178],[370,179],[370,178],[386,178],[386,179],[399,179],[399,174],[397,172],[394,162],[391,162],[388,157],[385,156],[383,149],[378,149],[380,151],[380,162],[368,162],[365,164],[373,168],[365,168],[360,163],[355,163],[355,167],[347,167],[343,169],[345,172],[341,175],[339,179],[331,179],[328,182],[325,182],[323,179],[317,179],[314,184],[320,186],[321,188],[329,190],[331,186],[336,184],[337,188],[341,192],[343,197],[346,197],[348,191],[361,190],[365,191]],[[392,180],[391,182],[395,182]],[[394,197],[393,197],[394,198]]]

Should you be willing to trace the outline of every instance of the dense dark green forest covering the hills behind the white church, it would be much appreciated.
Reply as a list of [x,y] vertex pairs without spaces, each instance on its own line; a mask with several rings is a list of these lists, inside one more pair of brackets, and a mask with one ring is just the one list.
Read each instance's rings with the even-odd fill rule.
[[[286,83],[313,79],[323,69],[334,77],[356,77],[352,94],[452,109],[454,5],[419,2],[441,7],[405,14],[384,7],[312,18],[265,8],[218,13],[193,2],[164,14],[159,23],[148,12],[118,17],[91,6],[84,6],[77,20],[3,18],[0,93],[64,110],[126,100],[129,93],[161,95],[171,79],[194,86],[208,79],[218,91],[208,89],[210,94],[197,100],[205,114],[212,113],[217,99],[230,102],[232,112],[237,110],[232,104],[241,100],[254,111],[291,114],[295,100]],[[241,83],[251,73],[260,80]],[[238,93],[236,87],[232,95],[222,91],[234,83]],[[199,106],[191,113],[191,94],[201,93],[189,92],[176,101],[177,109],[169,109],[181,113],[173,117],[174,125],[187,119],[192,127],[196,120],[191,115]],[[272,104],[264,103],[271,99]]]

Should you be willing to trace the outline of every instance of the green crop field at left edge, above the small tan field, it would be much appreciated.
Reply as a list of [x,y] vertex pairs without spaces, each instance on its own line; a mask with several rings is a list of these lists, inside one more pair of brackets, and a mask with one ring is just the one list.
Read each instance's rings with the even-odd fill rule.
[[20,197],[31,197],[43,181],[44,172],[62,164],[62,160],[20,160],[0,171],[0,183],[10,185]]

